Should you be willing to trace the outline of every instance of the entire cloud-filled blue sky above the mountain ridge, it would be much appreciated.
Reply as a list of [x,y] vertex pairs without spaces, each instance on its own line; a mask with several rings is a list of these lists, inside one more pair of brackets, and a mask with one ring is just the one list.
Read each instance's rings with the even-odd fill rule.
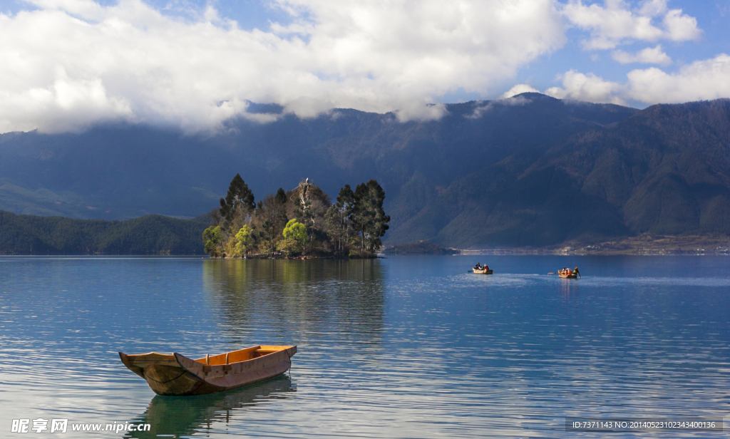
[[0,132],[215,130],[331,108],[730,97],[730,0],[0,1]]

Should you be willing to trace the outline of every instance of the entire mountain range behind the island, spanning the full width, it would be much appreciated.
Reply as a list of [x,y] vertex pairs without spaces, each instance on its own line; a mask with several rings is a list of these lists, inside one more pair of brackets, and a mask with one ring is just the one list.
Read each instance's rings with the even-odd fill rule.
[[637,110],[523,93],[441,120],[337,109],[215,135],[144,126],[0,136],[0,209],[124,219],[210,211],[239,172],[257,199],[310,177],[374,178],[385,244],[545,246],[638,233],[730,234],[728,100]]

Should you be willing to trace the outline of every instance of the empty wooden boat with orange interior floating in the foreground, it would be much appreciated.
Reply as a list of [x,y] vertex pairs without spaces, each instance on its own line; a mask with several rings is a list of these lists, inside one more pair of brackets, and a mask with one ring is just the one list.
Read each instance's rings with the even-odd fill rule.
[[253,346],[192,360],[172,354],[119,357],[129,370],[145,378],[158,395],[203,395],[237,389],[280,376],[291,368],[296,346]]

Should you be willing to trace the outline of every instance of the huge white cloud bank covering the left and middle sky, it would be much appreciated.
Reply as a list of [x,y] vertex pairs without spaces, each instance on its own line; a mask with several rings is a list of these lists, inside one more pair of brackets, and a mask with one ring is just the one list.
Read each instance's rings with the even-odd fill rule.
[[553,0],[270,0],[291,23],[245,31],[208,7],[163,15],[141,0],[31,0],[0,14],[0,131],[106,120],[215,128],[275,102],[439,117],[434,97],[493,83],[564,44]]

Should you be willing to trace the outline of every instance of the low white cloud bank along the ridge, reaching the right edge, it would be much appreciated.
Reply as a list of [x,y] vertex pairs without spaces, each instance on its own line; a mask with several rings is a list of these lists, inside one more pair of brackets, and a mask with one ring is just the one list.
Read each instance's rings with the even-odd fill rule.
[[651,67],[632,70],[626,77],[626,83],[619,84],[571,70],[561,75],[562,88],[549,88],[545,94],[613,104],[629,100],[661,104],[730,98],[730,55],[721,53],[715,58],[695,61],[675,73]]

